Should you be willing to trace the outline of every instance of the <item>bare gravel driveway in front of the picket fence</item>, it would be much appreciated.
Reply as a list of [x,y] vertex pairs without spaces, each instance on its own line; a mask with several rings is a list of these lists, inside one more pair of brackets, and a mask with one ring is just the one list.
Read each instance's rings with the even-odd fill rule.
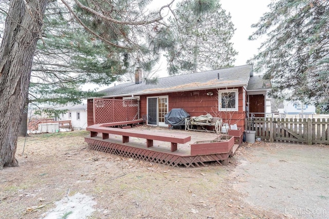
[[261,143],[242,151],[247,156],[237,156],[231,177],[247,203],[293,218],[329,218],[328,146]]

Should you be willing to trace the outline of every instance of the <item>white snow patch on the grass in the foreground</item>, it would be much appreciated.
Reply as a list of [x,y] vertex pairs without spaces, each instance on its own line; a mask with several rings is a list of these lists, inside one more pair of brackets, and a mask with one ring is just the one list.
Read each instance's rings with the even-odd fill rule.
[[66,196],[55,203],[56,208],[45,213],[44,219],[84,219],[92,214],[96,202],[85,194],[76,193],[73,196]]

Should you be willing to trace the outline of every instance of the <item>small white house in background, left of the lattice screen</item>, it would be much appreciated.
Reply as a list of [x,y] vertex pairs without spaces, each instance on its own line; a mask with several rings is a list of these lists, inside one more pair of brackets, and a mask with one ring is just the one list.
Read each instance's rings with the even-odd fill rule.
[[62,113],[59,121],[70,120],[73,130],[82,130],[87,127],[87,105],[80,104],[56,108],[57,110],[67,110]]

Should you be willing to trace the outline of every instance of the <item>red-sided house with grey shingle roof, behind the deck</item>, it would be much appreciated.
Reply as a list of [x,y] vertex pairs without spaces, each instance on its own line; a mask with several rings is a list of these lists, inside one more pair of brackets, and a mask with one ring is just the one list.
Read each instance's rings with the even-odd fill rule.
[[[191,116],[210,113],[244,130],[248,112],[264,117],[266,93],[271,87],[262,75],[253,75],[252,65],[162,77],[156,84],[141,78],[141,72],[137,72],[135,83],[120,84],[100,92],[105,93],[103,98],[137,99],[140,115],[148,117],[149,125],[167,127],[165,115],[173,108],[183,108]],[[94,113],[98,107],[95,99],[87,101],[88,126],[93,125],[98,116]],[[111,116],[105,112],[104,115]]]

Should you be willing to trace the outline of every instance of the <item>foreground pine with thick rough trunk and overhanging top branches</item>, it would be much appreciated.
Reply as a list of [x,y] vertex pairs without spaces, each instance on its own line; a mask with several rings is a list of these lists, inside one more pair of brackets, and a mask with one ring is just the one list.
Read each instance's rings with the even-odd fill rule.
[[[150,51],[150,48],[145,48],[145,51],[143,51],[144,46],[142,43],[139,43],[139,37],[144,33],[147,34],[148,31],[145,30],[151,30],[154,24],[161,21],[163,18],[161,10],[163,8],[170,7],[170,5],[162,7],[158,13],[145,14],[139,9],[142,6],[139,3],[145,4],[147,2],[143,0],[101,2],[103,4],[110,3],[108,7],[104,8],[98,7],[99,2],[88,1],[86,5],[93,7],[90,8],[75,0],[77,7],[93,15],[96,20],[100,17],[102,21],[109,25],[109,29],[113,28],[115,30],[114,33],[118,34],[117,38],[109,38],[106,37],[108,30],[105,31],[105,35],[93,31],[93,28],[88,27],[87,23],[84,23],[79,18],[72,7],[65,0],[62,0],[62,3],[70,12],[70,16],[96,39],[104,42],[107,46],[134,51],[138,54]],[[120,4],[116,5],[117,3]],[[0,169],[4,166],[18,165],[15,159],[17,137],[22,120],[22,112],[28,96],[36,45],[38,39],[42,38],[43,17],[47,4],[48,1],[43,0],[31,0],[28,2],[12,0],[10,1],[8,12],[5,12],[7,17],[0,45]],[[109,9],[112,9],[112,11],[109,11]],[[136,10],[134,9],[138,9],[137,11],[139,12],[135,13]],[[0,9],[0,11],[3,12],[4,9]],[[116,14],[112,13],[113,11],[123,11],[124,13]],[[117,29],[115,25],[117,25]],[[58,32],[55,32],[55,34],[58,34]],[[58,51],[61,50],[59,49]],[[63,61],[66,60],[64,59]],[[49,70],[56,69],[50,68]],[[63,73],[62,70],[61,72]],[[38,75],[34,76],[38,77]],[[84,76],[88,78],[88,75]],[[52,76],[46,74],[45,77],[41,78],[41,81],[51,82],[50,84],[52,84],[54,90],[59,91],[61,94],[71,91],[71,88],[76,88],[70,86],[65,89],[56,88],[56,83],[53,83],[53,81],[57,79],[62,80],[61,77],[56,77],[56,74]],[[65,84],[65,78],[62,82]],[[38,85],[39,82],[33,81],[33,83]],[[74,83],[74,80],[72,80],[72,83]],[[41,88],[43,88],[42,85]],[[45,91],[45,93],[49,94],[48,91]]]

